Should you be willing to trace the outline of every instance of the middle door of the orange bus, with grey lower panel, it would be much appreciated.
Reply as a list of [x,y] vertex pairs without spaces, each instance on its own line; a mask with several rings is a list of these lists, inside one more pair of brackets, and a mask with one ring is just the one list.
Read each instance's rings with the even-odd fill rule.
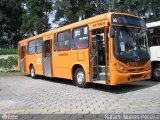
[[43,74],[51,76],[51,40],[43,43]]

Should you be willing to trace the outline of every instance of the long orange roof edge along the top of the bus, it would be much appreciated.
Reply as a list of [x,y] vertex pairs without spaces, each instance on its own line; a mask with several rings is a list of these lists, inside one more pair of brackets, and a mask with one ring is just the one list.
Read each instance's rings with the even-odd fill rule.
[[[44,37],[44,36],[51,35],[51,34],[54,34],[54,33],[57,33],[57,32],[72,29],[72,28],[75,28],[75,27],[80,27],[80,26],[83,26],[83,25],[91,24],[91,23],[94,23],[94,22],[98,22],[100,20],[104,20],[104,19],[109,19],[110,20],[110,17],[111,17],[112,14],[122,14],[122,15],[129,15],[129,16],[137,17],[137,16],[134,16],[132,14],[127,14],[127,13],[108,12],[108,13],[97,15],[95,17],[84,19],[84,20],[81,20],[81,21],[78,21],[78,22],[75,22],[75,23],[72,23],[72,24],[69,24],[69,25],[66,25],[66,26],[62,26],[62,27],[59,27],[59,28],[56,28],[56,29],[52,29],[50,31],[47,31],[47,32],[44,32],[44,33],[41,33],[41,34],[38,34],[38,35],[35,35],[35,36],[32,36],[32,37],[23,39],[23,40],[19,41],[19,43],[28,42],[30,40],[37,39],[39,37]],[[137,18],[139,18],[139,17],[137,17]]]

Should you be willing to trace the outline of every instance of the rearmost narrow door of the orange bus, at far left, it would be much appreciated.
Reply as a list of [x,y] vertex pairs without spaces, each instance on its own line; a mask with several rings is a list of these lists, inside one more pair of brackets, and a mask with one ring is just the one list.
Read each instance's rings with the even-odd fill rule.
[[20,47],[20,71],[25,72],[26,46]]

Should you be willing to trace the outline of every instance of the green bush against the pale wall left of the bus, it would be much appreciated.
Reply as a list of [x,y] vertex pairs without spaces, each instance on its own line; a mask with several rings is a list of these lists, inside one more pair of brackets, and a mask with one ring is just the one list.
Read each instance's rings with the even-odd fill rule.
[[17,66],[17,60],[16,56],[10,56],[8,59],[0,58],[0,68],[3,68],[4,70],[11,70]]

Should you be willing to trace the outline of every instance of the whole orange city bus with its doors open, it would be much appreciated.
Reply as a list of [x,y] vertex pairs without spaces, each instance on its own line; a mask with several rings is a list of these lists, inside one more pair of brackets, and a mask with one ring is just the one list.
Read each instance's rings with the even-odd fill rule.
[[118,85],[150,79],[151,62],[143,19],[109,12],[19,42],[19,69],[88,83]]

